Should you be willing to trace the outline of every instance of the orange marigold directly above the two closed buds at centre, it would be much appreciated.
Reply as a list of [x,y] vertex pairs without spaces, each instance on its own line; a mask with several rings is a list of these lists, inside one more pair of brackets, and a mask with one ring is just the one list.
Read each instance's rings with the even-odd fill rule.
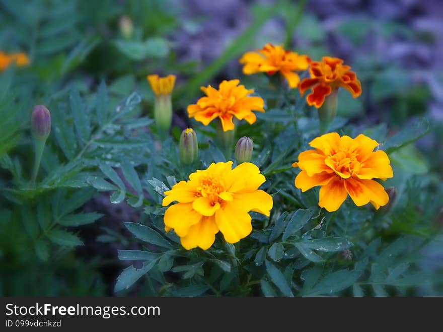
[[189,117],[194,117],[204,125],[218,117],[223,131],[234,129],[233,116],[239,120],[245,119],[249,124],[254,123],[257,117],[252,111],[264,112],[264,101],[260,97],[249,96],[254,90],[246,89],[239,83],[239,80],[223,81],[218,90],[210,85],[201,87],[206,97],[188,106]]

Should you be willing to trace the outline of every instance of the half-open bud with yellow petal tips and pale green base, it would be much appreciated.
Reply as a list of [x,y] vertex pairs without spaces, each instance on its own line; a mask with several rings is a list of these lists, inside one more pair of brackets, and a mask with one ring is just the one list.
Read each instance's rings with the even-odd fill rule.
[[147,81],[156,95],[154,103],[154,119],[160,133],[168,132],[172,121],[172,101],[171,93],[174,89],[175,76],[159,77],[158,75],[148,75]]

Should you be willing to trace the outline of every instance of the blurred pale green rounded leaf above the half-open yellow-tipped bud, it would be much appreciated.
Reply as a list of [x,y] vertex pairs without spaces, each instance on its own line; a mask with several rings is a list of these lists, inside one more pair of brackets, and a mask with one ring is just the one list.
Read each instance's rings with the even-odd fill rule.
[[145,41],[117,40],[117,48],[133,60],[143,60],[146,57],[162,58],[169,54],[169,44],[163,38],[149,38]]

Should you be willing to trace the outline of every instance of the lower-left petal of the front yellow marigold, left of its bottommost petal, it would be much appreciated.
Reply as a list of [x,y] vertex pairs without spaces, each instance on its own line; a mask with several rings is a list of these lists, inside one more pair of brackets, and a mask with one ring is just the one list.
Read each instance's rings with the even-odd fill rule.
[[189,227],[200,222],[202,215],[192,208],[192,203],[178,203],[170,206],[163,221],[169,229],[174,229],[178,236],[185,236]]

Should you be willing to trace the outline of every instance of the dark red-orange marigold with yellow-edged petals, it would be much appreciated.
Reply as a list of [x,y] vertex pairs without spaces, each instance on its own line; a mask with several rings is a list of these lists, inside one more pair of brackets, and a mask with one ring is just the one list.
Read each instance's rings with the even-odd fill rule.
[[321,61],[312,61],[309,67],[310,79],[304,79],[299,86],[303,94],[308,89],[312,92],[306,97],[308,105],[320,108],[332,90],[343,87],[348,90],[352,97],[361,94],[361,84],[354,72],[350,71],[348,65],[337,57],[323,56]]

